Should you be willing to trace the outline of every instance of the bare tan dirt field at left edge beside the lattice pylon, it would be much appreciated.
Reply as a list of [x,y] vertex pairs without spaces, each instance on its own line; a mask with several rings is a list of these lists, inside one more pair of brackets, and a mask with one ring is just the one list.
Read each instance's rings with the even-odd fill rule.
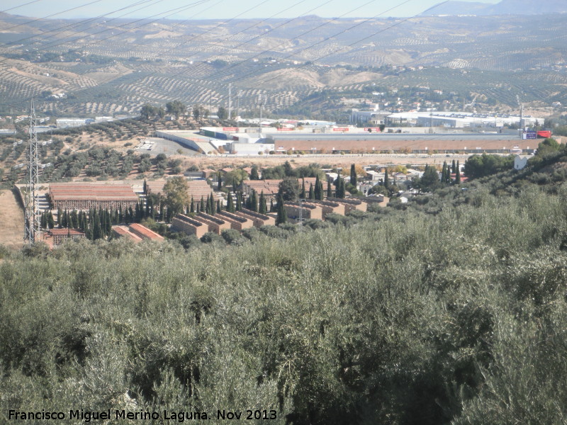
[[23,210],[12,191],[0,191],[0,244],[11,249],[23,246]]

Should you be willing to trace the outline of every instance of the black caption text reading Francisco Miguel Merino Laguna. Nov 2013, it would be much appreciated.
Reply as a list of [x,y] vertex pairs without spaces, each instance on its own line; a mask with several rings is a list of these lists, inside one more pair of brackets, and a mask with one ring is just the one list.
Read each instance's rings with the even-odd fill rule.
[[[238,410],[227,411],[217,410],[216,419],[276,419],[277,413],[275,410]],[[138,419],[138,420],[155,420],[163,419],[165,421],[184,422],[185,420],[203,420],[213,419],[208,416],[207,412],[170,412],[164,410],[163,412],[146,412],[145,410],[138,410],[135,412],[128,412],[126,410],[105,410],[103,412],[84,412],[83,410],[69,410],[67,415],[65,412],[17,412],[16,410],[8,411],[8,419],[12,421],[40,419],[40,420],[62,420],[62,419],[77,419],[85,423],[90,421],[111,420],[116,419]]]

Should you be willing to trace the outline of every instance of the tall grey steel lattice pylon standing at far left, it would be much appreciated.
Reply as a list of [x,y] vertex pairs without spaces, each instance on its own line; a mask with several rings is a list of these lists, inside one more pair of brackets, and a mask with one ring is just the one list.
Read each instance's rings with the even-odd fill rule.
[[35,242],[35,237],[39,237],[40,232],[40,213],[37,198],[37,188],[39,187],[39,156],[38,156],[38,135],[35,132],[37,119],[35,118],[35,108],[33,100],[30,108],[30,148],[28,149],[28,172],[26,173],[27,187],[24,200],[26,208],[24,218],[23,240],[28,244]]

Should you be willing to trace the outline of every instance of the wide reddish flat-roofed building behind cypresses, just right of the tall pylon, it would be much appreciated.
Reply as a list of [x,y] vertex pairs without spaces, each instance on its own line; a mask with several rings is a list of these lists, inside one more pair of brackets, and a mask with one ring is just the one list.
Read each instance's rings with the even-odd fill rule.
[[50,183],[49,196],[53,207],[61,210],[124,210],[135,208],[138,201],[132,186],[125,184]]

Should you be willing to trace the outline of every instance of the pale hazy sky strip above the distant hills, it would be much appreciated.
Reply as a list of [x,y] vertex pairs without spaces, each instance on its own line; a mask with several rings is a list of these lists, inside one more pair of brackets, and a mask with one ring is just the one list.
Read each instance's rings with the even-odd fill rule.
[[[33,4],[23,6],[30,1]],[[482,0],[483,3],[489,4],[496,4],[499,1]],[[414,16],[441,2],[442,0],[82,0],[74,2],[4,0],[1,1],[0,11],[34,18],[45,18],[70,8],[74,10],[57,14],[52,18],[86,18],[102,15],[143,18],[158,13],[162,13],[158,17],[169,19],[269,18],[272,16],[291,18],[306,14],[332,18],[339,16],[370,18],[374,16]],[[87,4],[89,5],[78,7]],[[134,4],[137,6],[133,6]],[[16,6],[21,7],[16,8]],[[120,8],[125,9],[112,13]],[[186,9],[174,11],[175,8]],[[136,9],[140,10],[136,11]]]

